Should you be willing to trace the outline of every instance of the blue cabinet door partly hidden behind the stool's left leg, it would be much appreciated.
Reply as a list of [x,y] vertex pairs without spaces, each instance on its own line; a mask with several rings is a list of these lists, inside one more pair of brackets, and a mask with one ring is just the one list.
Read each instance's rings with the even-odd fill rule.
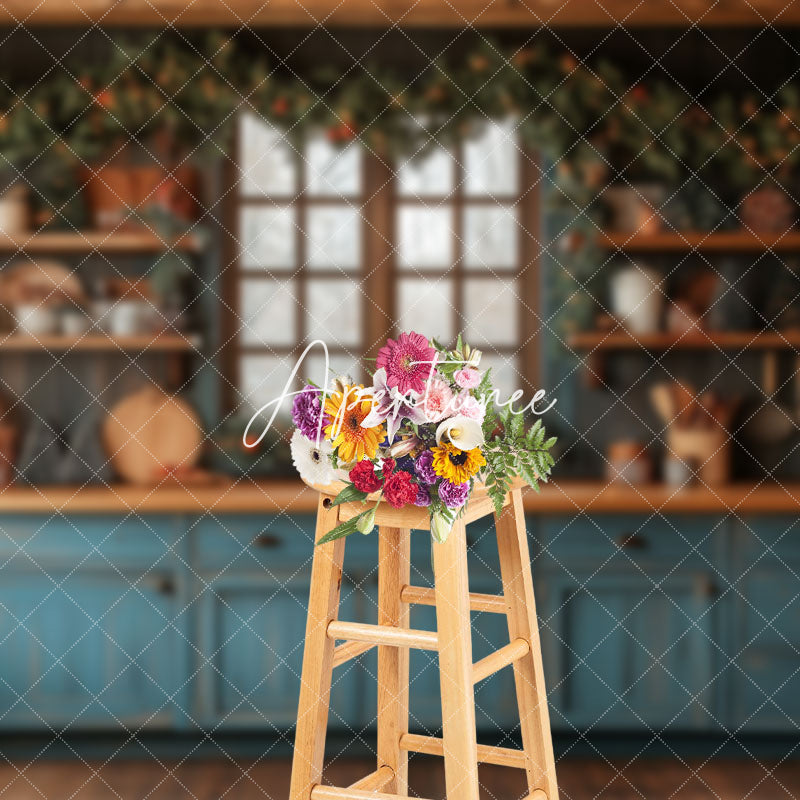
[[[209,727],[279,732],[297,716],[308,578],[284,582],[251,576],[214,581],[202,597],[202,652],[197,714]],[[352,618],[347,597],[341,614]],[[352,673],[334,672],[329,726],[346,728],[357,699]]]

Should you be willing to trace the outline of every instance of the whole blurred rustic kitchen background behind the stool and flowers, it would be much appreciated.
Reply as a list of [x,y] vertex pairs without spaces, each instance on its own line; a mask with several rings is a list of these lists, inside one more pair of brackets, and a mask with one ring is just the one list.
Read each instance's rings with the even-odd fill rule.
[[[12,0],[0,24],[0,794],[287,796],[316,499],[285,408],[242,433],[308,342],[363,378],[413,329],[557,399],[525,507],[562,797],[800,796],[800,10]],[[376,621],[376,563],[348,540],[343,618]],[[507,641],[473,629],[476,658]],[[436,733],[435,657],[411,672]],[[339,785],[373,768],[375,673],[335,675]],[[513,746],[509,671],[476,702]],[[443,796],[436,759],[411,776]]]

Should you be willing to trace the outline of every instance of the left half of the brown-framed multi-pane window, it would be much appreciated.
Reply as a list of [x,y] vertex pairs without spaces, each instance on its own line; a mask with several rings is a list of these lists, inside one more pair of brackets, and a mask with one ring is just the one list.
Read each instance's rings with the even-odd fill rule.
[[[357,369],[364,158],[357,144],[341,149],[322,135],[298,148],[249,113],[238,154],[235,372],[242,398],[257,408],[314,339],[327,343],[333,369]],[[322,376],[322,364],[314,351],[302,374]]]

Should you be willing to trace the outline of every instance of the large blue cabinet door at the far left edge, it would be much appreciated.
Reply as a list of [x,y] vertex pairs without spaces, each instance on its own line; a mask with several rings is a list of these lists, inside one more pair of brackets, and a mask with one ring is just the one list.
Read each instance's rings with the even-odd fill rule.
[[[131,578],[131,582],[135,576]],[[169,575],[7,574],[0,582],[0,726],[163,726],[178,643]]]

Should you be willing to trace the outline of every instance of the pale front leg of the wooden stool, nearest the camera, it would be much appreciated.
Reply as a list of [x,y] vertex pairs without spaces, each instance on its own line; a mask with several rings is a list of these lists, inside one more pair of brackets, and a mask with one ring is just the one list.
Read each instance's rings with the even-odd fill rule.
[[467,534],[462,521],[456,521],[446,542],[433,544],[433,574],[447,800],[478,800]]

